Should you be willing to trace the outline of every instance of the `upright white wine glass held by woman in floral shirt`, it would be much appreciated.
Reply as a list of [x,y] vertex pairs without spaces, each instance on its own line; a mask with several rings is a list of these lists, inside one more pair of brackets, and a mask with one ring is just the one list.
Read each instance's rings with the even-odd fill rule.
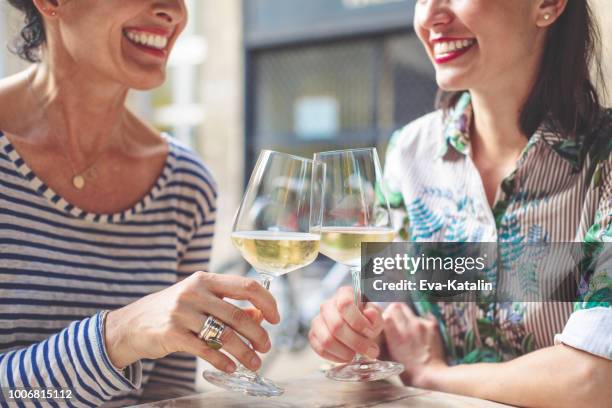
[[[322,185],[321,227],[311,231],[321,235],[320,252],[351,270],[355,304],[361,301],[361,243],[390,242],[395,236],[389,202],[382,186],[380,163],[375,148],[316,153],[315,167],[325,165],[325,174],[315,175]],[[392,361],[356,355],[353,361],[327,372],[339,381],[374,381],[404,371]]]

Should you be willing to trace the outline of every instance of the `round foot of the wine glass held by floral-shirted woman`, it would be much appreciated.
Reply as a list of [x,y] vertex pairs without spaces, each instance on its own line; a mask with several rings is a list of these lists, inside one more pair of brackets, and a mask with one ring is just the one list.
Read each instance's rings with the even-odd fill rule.
[[377,381],[404,371],[404,365],[394,361],[354,360],[328,370],[327,378],[336,381]]

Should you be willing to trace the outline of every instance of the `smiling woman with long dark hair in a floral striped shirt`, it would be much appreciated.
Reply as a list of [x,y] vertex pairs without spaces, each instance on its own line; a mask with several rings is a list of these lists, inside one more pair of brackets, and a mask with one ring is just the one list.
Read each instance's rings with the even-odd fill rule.
[[401,237],[575,242],[597,251],[598,264],[556,288],[573,302],[360,312],[343,288],[314,319],[313,348],[338,362],[383,350],[404,364],[406,385],[520,406],[609,406],[612,113],[590,76],[600,65],[587,1],[418,0],[414,27],[442,92],[440,109],[389,145]]

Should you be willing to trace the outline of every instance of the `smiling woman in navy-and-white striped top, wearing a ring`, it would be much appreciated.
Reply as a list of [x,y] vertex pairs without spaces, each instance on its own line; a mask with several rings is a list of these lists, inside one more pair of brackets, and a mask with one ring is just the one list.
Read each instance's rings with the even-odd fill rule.
[[[235,331],[268,351],[259,311],[278,322],[274,299],[203,272],[210,172],[125,106],[163,83],[184,2],[9,3],[34,64],[0,80],[1,386],[42,388],[52,406],[126,405],[192,393],[195,356],[234,371],[218,345],[257,369]],[[210,316],[227,324],[214,344],[201,340]]]

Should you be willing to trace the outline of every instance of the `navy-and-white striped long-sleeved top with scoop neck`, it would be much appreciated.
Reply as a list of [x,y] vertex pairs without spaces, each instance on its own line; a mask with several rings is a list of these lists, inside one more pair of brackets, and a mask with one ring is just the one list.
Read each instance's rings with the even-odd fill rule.
[[1,387],[69,388],[68,406],[194,391],[195,357],[139,361],[124,376],[103,341],[104,311],[208,269],[216,187],[193,152],[167,140],[147,196],[101,215],[52,191],[0,132]]

